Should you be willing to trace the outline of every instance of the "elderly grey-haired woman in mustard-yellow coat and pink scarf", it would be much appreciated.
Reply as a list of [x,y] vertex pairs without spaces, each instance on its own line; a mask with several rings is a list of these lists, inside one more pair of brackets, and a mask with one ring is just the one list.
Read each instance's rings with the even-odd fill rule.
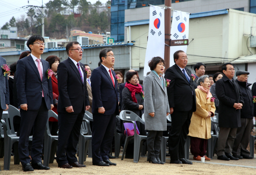
[[189,136],[191,136],[190,152],[194,155],[193,159],[201,161],[211,160],[206,154],[207,139],[211,138],[211,119],[214,116],[214,98],[210,93],[209,76],[203,75],[198,79],[196,94],[196,111],[193,113],[189,126]]

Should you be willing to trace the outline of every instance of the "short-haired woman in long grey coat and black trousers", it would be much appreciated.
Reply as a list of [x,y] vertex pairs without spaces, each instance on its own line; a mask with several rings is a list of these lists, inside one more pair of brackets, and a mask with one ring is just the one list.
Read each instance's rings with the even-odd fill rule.
[[163,131],[167,130],[166,116],[170,113],[166,79],[161,74],[164,71],[164,60],[159,56],[153,57],[148,66],[151,73],[143,81],[145,130],[148,130],[148,160],[149,163],[163,164],[159,158],[160,145]]

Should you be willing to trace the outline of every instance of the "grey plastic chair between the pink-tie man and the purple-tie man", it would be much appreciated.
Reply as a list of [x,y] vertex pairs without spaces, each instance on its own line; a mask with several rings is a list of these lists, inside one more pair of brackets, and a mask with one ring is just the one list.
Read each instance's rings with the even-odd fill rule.
[[49,118],[53,117],[58,120],[58,115],[52,110],[48,111],[48,119],[46,129],[44,131],[44,166],[49,167],[49,163],[53,163],[54,155],[57,150],[58,135],[51,135],[49,128]]

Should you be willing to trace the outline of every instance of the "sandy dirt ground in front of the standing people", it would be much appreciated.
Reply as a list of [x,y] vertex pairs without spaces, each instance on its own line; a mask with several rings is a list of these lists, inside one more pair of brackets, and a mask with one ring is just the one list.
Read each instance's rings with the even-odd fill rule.
[[[122,152],[121,152],[122,154]],[[190,155],[192,160],[192,155]],[[0,158],[1,175],[20,175],[20,174],[47,174],[47,175],[255,175],[255,168],[231,167],[218,164],[204,164],[193,162],[193,165],[177,165],[169,164],[169,158],[166,159],[166,164],[150,164],[145,157],[141,157],[139,163],[134,163],[133,159],[119,158],[111,159],[117,166],[98,167],[92,165],[92,158],[87,158],[84,164],[85,168],[62,169],[58,168],[58,164],[54,161],[49,164],[50,170],[35,170],[33,172],[23,172],[22,166],[13,164],[13,156],[11,159],[10,171],[3,170],[3,158]],[[224,164],[239,164],[256,167],[256,158],[252,160],[239,161],[220,161],[216,155],[211,161]]]

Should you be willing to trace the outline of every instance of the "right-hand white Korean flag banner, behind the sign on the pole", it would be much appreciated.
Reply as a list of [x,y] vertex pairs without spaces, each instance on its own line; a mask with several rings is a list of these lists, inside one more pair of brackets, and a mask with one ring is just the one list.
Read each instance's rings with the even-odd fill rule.
[[[186,40],[189,39],[189,14],[183,11],[173,11],[171,39]],[[187,45],[171,46],[170,48],[170,67],[174,65],[173,54],[182,50],[186,53]]]

